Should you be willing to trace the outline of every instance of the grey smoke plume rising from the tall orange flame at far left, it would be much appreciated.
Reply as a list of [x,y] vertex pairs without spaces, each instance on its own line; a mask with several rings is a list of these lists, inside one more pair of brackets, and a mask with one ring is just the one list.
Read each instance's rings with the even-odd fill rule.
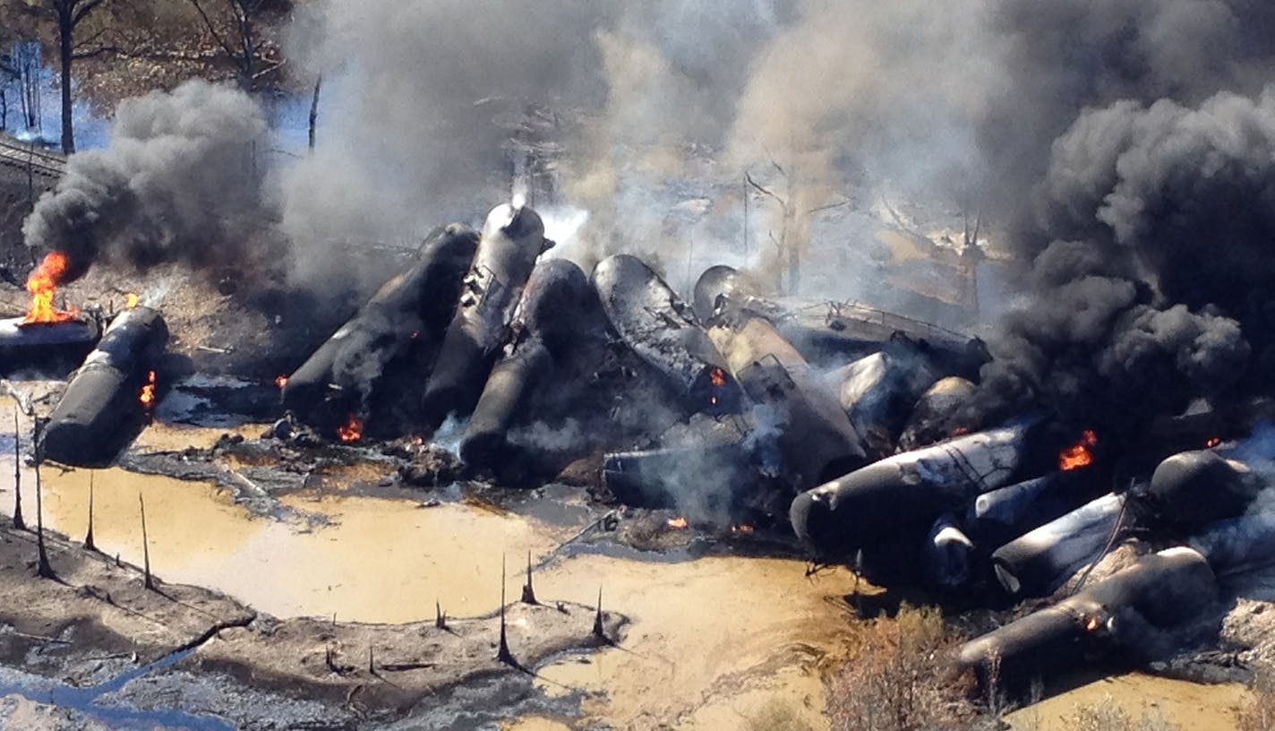
[[238,264],[269,228],[254,163],[265,130],[251,98],[203,80],[126,100],[110,145],[68,158],[36,202],[27,244],[65,251],[69,279],[98,259]]

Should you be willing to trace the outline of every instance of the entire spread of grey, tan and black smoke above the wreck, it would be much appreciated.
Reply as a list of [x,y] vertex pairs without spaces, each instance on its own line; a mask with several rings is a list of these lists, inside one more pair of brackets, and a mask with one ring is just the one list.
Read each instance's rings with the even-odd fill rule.
[[[356,244],[476,222],[530,175],[536,143],[553,153],[552,190],[532,186],[547,198],[532,203],[588,212],[584,244],[561,249],[585,267],[625,250],[694,277],[692,246],[773,264],[768,232],[784,222],[769,199],[752,212],[752,259],[732,259],[743,171],[797,212],[882,190],[980,210],[1034,263],[1033,295],[989,338],[988,413],[1172,411],[1233,387],[1247,343],[1261,352],[1275,332],[1265,0],[320,0],[298,13],[291,68],[324,78],[319,144],[272,172],[266,198],[300,283],[354,277]],[[84,260],[233,253],[204,244],[244,240],[244,212],[260,214],[237,162],[260,114],[191,84],[120,116],[111,149],[73,158],[31,240]],[[671,235],[678,216],[700,221],[694,237]],[[810,231],[794,216],[798,244]],[[829,259],[803,267],[862,277]]]

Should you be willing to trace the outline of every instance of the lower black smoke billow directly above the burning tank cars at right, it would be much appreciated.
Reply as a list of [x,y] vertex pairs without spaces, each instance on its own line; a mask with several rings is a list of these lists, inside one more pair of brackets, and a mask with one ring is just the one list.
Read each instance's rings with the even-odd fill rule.
[[993,361],[952,426],[1047,410],[1076,427],[1123,434],[1225,393],[1244,373],[1250,346],[1235,320],[1154,306],[1150,287],[1121,276],[1093,244],[1051,245],[1031,286],[1037,297],[997,324]]

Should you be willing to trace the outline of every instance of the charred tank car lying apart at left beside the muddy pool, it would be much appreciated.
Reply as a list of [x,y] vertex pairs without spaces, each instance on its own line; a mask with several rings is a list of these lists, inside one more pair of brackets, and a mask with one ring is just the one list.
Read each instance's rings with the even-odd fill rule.
[[[71,376],[37,450],[64,464],[105,467],[144,424],[143,385],[168,342],[168,328],[150,307],[120,313],[97,348]],[[153,395],[153,394],[152,394]]]

